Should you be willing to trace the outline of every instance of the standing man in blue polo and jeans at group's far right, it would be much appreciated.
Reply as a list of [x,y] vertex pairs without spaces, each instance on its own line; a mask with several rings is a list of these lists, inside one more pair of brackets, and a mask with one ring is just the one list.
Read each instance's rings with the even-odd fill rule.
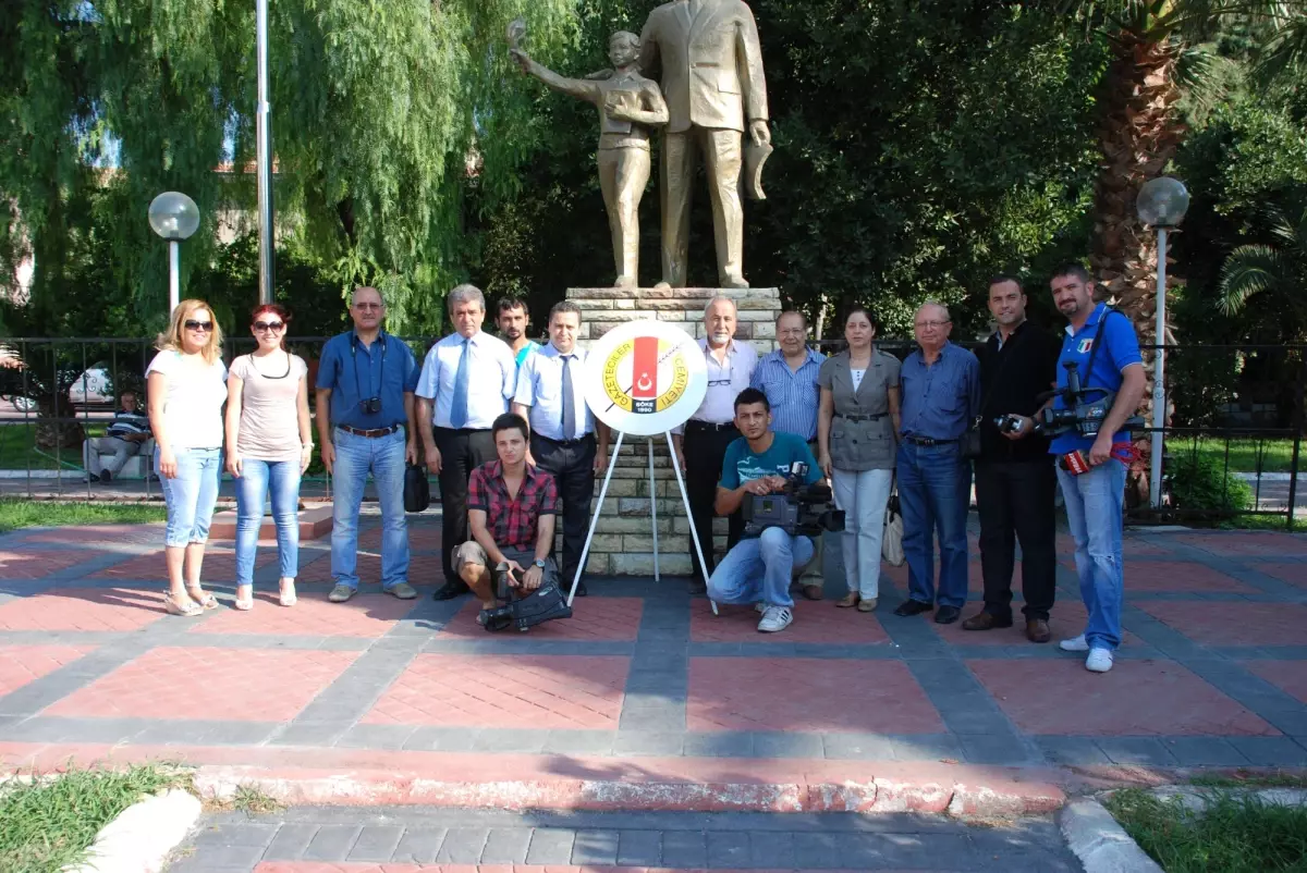
[[[1067,523],[1076,541],[1080,596],[1089,612],[1085,633],[1063,640],[1061,648],[1068,652],[1089,652],[1085,668],[1106,673],[1112,669],[1114,652],[1121,644],[1121,600],[1125,589],[1121,504],[1125,499],[1125,459],[1129,457],[1131,436],[1120,429],[1134,414],[1144,397],[1144,358],[1131,320],[1104,303],[1094,303],[1094,282],[1084,267],[1068,264],[1057,269],[1050,286],[1057,310],[1069,321],[1057,359],[1057,388],[1067,387],[1065,365],[1074,362],[1085,388],[1116,392],[1116,400],[1097,438],[1069,433],[1053,438],[1048,447],[1051,453],[1059,456],[1059,461],[1061,456],[1078,451],[1089,464],[1089,470],[1078,476],[1061,463],[1057,465],[1057,481],[1067,503]],[[1091,393],[1086,400],[1094,401],[1102,396]],[[1055,404],[1057,409],[1067,408],[1060,396]]]

